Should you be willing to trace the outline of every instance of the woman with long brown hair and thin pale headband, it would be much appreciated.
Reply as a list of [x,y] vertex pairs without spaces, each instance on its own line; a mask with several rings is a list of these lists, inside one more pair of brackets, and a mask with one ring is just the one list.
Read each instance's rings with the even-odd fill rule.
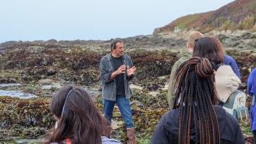
[[66,86],[52,97],[50,111],[55,128],[45,143],[65,144],[119,144],[104,135],[104,120],[84,89]]

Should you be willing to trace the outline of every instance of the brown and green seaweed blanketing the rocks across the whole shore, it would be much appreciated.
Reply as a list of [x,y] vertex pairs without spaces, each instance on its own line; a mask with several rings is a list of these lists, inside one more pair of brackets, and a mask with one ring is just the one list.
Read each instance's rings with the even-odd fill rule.
[[[24,92],[42,96],[41,79],[63,80],[64,84],[98,84],[100,58],[107,51],[95,52],[84,47],[37,47],[17,45],[1,52],[0,83],[25,84]],[[135,121],[136,137],[139,143],[148,143],[161,116],[168,111],[163,90],[169,79],[172,65],[178,59],[176,52],[169,50],[146,51],[132,49],[127,52],[137,67],[133,84],[143,89],[133,89],[132,113]],[[228,50],[239,65],[242,81],[245,83],[250,68],[256,66],[255,50],[241,52]],[[164,76],[162,78],[159,78]],[[36,85],[37,84],[37,85]],[[243,90],[246,87],[242,87]],[[12,88],[13,90],[13,88]],[[50,89],[47,95],[56,92]],[[155,92],[152,95],[152,92]],[[97,107],[102,110],[100,95],[95,97]],[[115,108],[114,121],[122,121]],[[49,113],[49,97],[32,100],[20,100],[11,97],[0,97],[0,141],[13,137],[39,138],[45,135],[55,123]],[[243,124],[244,132],[248,123]],[[247,132],[249,135],[249,132]],[[247,136],[248,136],[247,135]],[[124,125],[113,131],[113,137],[124,142],[127,140]]]

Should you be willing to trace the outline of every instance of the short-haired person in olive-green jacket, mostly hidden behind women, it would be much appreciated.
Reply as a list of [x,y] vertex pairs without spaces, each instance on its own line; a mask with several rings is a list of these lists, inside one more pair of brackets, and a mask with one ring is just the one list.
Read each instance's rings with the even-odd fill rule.
[[168,86],[168,94],[167,94],[167,101],[169,104],[169,108],[172,110],[173,108],[173,103],[175,100],[175,92],[172,91],[172,75],[175,73],[175,71],[177,70],[177,68],[180,67],[180,65],[182,63],[184,63],[186,60],[189,60],[192,57],[192,53],[193,53],[193,46],[195,44],[195,40],[196,39],[200,39],[204,37],[204,35],[202,33],[200,33],[199,31],[191,31],[191,33],[188,36],[188,41],[187,43],[187,47],[188,47],[188,52],[183,54],[179,60],[177,60],[175,62],[174,65],[172,65],[172,71],[170,74],[170,78],[169,78],[169,86]]

